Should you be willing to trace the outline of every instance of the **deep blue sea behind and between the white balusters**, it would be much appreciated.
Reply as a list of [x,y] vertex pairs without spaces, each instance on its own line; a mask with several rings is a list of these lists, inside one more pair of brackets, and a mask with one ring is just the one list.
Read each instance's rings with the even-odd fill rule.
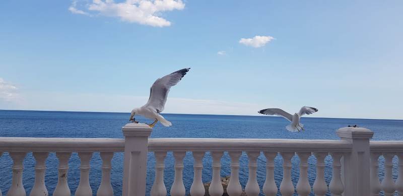
[[[374,131],[373,140],[403,140],[403,120],[376,120],[376,119],[343,119],[343,118],[302,118],[305,132],[291,133],[285,129],[287,121],[282,117],[270,116],[231,116],[231,115],[189,115],[164,114],[173,126],[164,127],[158,123],[151,134],[151,138],[276,138],[276,139],[339,139],[335,130],[340,127],[357,124]],[[0,110],[0,137],[57,137],[57,138],[123,138],[121,127],[127,123],[128,113],[107,112],[57,112],[57,111],[14,111]],[[144,122],[144,119],[137,117]],[[115,195],[121,195],[122,153],[115,153],[112,159],[112,186]],[[204,158],[203,181],[211,180],[211,156]],[[383,160],[380,159],[382,165]],[[331,157],[326,157],[325,176],[327,184],[331,177]],[[309,180],[313,185],[315,179],[315,158],[309,158]],[[396,160],[394,160],[396,162]],[[240,159],[240,181],[242,187],[246,185],[248,169],[245,154]],[[275,159],[275,178],[279,186],[282,180],[282,159],[280,155]],[[293,158],[292,178],[294,185],[298,181],[297,156]],[[0,158],[0,188],[3,194],[11,186],[12,160],[8,153]],[[50,153],[46,161],[45,182],[51,195],[57,183],[57,164],[54,153]],[[69,186],[74,194],[80,179],[80,160],[77,153],[70,159]],[[173,183],[174,161],[172,153],[168,153],[165,160],[165,184],[168,195]],[[230,159],[227,153],[222,158],[222,176],[230,175]],[[396,163],[394,164],[396,166]],[[23,183],[29,194],[34,182],[35,161],[29,153],[24,160]],[[101,160],[98,153],[94,153],[91,160],[90,184],[94,195],[101,179]],[[155,158],[149,154],[147,193],[154,180]],[[193,159],[187,153],[184,159],[184,184],[186,194],[189,192],[193,178]],[[396,172],[396,168],[394,169]],[[265,179],[265,158],[258,158],[258,182],[263,186]],[[382,178],[382,169],[380,169]]]

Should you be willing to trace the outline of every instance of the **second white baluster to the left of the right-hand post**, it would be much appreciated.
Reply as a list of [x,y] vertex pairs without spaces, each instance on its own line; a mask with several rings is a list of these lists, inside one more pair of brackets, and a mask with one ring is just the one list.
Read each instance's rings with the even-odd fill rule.
[[316,179],[313,183],[313,192],[317,196],[324,196],[327,192],[327,185],[324,181],[324,158],[327,153],[314,153],[316,157]]

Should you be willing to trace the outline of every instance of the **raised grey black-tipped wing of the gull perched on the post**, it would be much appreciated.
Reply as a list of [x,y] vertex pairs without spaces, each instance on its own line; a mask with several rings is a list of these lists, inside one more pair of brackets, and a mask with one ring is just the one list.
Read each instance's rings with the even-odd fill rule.
[[150,88],[150,97],[145,106],[155,109],[157,113],[162,112],[167,101],[169,89],[178,84],[189,70],[190,68],[185,68],[157,79]]

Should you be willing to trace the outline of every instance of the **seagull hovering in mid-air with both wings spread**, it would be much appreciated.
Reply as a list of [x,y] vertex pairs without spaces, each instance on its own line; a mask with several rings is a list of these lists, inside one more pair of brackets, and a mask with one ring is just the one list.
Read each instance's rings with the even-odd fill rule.
[[296,132],[298,130],[298,132],[300,132],[301,130],[299,128],[301,128],[302,130],[305,130],[303,128],[304,125],[299,122],[300,117],[304,114],[311,114],[311,113],[315,113],[317,111],[318,111],[318,109],[316,109],[314,107],[304,106],[301,108],[301,110],[299,110],[298,113],[295,113],[294,115],[291,115],[290,113],[288,113],[280,108],[262,109],[262,110],[258,111],[258,113],[266,114],[266,115],[283,116],[284,118],[286,118],[287,120],[289,120],[291,122],[290,125],[286,126],[287,130],[289,130],[290,132]]

